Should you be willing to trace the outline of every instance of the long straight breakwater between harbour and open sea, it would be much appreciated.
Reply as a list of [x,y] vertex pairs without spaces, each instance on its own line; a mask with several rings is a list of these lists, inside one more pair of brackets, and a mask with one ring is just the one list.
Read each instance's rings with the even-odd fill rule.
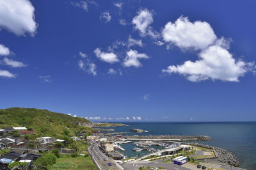
[[147,136],[138,136],[138,135],[134,135],[134,136],[124,136],[125,139],[159,139],[159,141],[161,141],[161,139],[170,139],[170,141],[172,139],[179,139],[180,141],[211,141],[211,138],[209,136],[201,136],[201,135],[191,135],[191,136],[180,136],[180,135],[147,135]]

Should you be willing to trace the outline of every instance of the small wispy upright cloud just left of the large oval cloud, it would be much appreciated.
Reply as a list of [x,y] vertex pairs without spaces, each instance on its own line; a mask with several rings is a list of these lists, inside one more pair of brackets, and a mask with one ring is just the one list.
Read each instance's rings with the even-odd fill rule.
[[141,32],[142,36],[147,33],[148,25],[153,22],[153,14],[148,9],[138,11],[138,15],[132,19],[134,28]]

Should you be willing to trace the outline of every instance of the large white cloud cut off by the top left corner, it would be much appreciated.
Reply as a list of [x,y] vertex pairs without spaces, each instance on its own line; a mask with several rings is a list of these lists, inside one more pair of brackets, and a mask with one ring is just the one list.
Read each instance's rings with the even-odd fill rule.
[[34,15],[35,8],[29,0],[1,0],[0,27],[8,29],[17,35],[36,32]]

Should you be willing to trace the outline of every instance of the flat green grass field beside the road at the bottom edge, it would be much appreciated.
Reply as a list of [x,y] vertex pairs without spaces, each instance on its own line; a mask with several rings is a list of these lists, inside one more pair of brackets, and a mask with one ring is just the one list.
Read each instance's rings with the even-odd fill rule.
[[56,164],[51,167],[51,170],[62,170],[62,169],[88,169],[97,170],[95,164],[93,164],[91,157],[67,157],[57,159]]

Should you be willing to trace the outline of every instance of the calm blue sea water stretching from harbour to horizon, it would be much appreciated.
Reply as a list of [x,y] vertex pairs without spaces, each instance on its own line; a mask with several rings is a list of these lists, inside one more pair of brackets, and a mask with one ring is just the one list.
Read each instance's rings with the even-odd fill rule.
[[[234,153],[240,160],[240,167],[256,169],[256,122],[122,122],[129,126],[114,127],[115,132],[129,132],[130,128],[148,130],[148,133],[129,135],[207,135],[212,141],[202,142],[218,146]],[[132,148],[131,145],[123,145]],[[134,155],[137,153],[134,152]]]

